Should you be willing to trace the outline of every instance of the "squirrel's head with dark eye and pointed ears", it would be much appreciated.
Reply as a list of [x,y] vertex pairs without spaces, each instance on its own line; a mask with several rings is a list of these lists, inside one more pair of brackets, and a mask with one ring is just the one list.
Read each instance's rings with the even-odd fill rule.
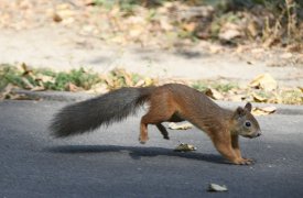
[[261,135],[258,121],[251,114],[252,106],[247,102],[245,108],[238,107],[232,116],[232,133],[245,138],[257,138]]

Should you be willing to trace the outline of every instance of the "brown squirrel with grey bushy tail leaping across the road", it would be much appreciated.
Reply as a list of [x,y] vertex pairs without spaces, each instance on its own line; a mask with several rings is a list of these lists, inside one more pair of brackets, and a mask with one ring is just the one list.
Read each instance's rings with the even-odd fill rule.
[[206,95],[191,87],[167,84],[160,87],[121,88],[106,95],[63,108],[52,120],[51,130],[57,138],[91,131],[120,121],[138,107],[149,103],[149,111],[141,118],[140,143],[145,143],[148,124],[155,124],[164,139],[169,133],[162,122],[187,120],[205,131],[217,151],[234,164],[251,164],[240,153],[238,136],[261,135],[258,121],[250,113],[251,103],[235,111],[220,108]]

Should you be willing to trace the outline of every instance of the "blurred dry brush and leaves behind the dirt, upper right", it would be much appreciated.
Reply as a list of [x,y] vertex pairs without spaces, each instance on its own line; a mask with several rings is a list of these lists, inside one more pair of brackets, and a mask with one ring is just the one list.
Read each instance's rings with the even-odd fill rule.
[[[231,45],[249,41],[264,47],[292,45],[293,51],[302,50],[300,0],[94,0],[91,4],[119,7],[123,16],[137,15],[138,7],[147,8],[150,20],[160,20],[164,31],[174,30],[177,37],[192,41],[218,40]],[[169,20],[161,21],[161,14]]]

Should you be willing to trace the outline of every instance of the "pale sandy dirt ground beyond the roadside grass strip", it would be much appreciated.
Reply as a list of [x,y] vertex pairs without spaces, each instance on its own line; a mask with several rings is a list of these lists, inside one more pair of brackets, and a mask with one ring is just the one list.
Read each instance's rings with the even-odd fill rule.
[[[203,41],[170,50],[133,43],[119,45],[83,34],[77,28],[80,22],[74,22],[72,26],[55,23],[44,13],[50,10],[43,3],[33,7],[31,0],[22,2],[25,11],[20,10],[24,16],[20,21],[12,10],[17,4],[8,4],[9,1],[0,3],[2,9],[10,10],[7,10],[10,16],[7,20],[3,18],[6,12],[1,13],[0,63],[25,63],[55,70],[87,67],[100,73],[118,67],[160,78],[230,79],[240,82],[249,82],[257,75],[269,73],[280,85],[303,85],[303,55],[300,53],[256,46],[229,48]],[[58,2],[62,3],[48,1],[51,4]],[[23,8],[20,3],[18,6],[18,9]],[[29,8],[32,10],[30,13]]]

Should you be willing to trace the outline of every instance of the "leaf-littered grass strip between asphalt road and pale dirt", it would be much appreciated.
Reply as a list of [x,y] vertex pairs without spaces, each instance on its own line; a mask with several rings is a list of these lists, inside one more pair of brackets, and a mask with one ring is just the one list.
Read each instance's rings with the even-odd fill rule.
[[[158,85],[156,79],[144,77],[138,74],[130,74],[123,69],[113,69],[107,75],[99,75],[84,68],[72,69],[71,72],[53,72],[51,69],[33,69],[25,64],[20,67],[2,64],[0,65],[0,98],[15,98],[7,94],[8,86],[28,90],[58,90],[58,91],[91,91],[104,94],[121,87],[145,87]],[[235,82],[220,82],[196,80],[188,86],[205,92],[214,99],[236,100],[238,95],[241,98],[255,102],[303,105],[303,91],[300,88],[280,88],[279,90],[264,91],[262,89],[239,87]],[[209,92],[210,90],[210,92]],[[216,91],[216,92],[214,92]],[[219,98],[216,98],[219,97]],[[17,97],[18,98],[18,97]]]

